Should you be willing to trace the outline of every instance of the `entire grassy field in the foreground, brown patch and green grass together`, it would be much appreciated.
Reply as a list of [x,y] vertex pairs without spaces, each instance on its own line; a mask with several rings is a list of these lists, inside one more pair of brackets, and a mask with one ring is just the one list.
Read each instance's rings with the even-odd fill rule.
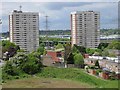
[[96,78],[77,68],[45,67],[41,73],[3,84],[7,88],[118,88],[118,80]]

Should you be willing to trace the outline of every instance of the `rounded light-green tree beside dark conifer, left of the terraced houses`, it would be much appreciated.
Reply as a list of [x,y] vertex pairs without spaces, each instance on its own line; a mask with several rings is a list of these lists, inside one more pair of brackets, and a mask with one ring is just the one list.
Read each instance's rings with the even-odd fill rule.
[[84,58],[83,58],[83,56],[80,53],[76,53],[74,55],[74,64],[77,67],[79,67],[79,66],[83,67],[83,65],[84,65]]

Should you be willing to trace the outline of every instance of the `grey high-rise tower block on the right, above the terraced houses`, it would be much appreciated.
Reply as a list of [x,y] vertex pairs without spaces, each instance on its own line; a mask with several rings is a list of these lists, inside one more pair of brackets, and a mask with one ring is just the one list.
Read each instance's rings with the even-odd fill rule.
[[100,43],[100,13],[76,11],[71,13],[72,45],[96,48]]

